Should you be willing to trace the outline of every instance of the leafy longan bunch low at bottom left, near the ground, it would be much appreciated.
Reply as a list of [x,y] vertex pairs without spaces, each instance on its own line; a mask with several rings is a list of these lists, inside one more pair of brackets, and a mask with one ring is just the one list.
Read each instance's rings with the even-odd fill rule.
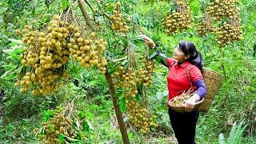
[[[70,115],[70,107],[58,107],[58,110],[50,111],[54,112],[54,115],[47,122],[42,122],[41,128],[33,130],[38,138],[49,144],[86,141],[86,133],[82,127],[83,122],[86,121],[77,118],[74,121]],[[60,137],[62,137],[61,141]]]

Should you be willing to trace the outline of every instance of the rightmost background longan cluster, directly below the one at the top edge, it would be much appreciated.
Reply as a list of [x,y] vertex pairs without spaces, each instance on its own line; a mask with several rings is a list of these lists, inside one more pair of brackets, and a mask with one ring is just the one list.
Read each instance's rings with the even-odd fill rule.
[[230,24],[225,24],[217,29],[216,41],[219,47],[225,46],[226,43],[231,41],[239,41],[242,39],[242,27],[232,26]]

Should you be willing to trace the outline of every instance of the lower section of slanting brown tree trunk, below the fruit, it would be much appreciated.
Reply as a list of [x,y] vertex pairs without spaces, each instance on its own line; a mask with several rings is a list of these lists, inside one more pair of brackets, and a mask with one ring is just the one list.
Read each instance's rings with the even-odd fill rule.
[[118,119],[118,126],[122,134],[122,142],[125,144],[129,144],[129,138],[126,130],[126,125],[125,122],[123,122],[123,116],[122,116],[122,111],[120,110],[119,103],[118,103],[118,98],[115,96],[115,91],[114,91],[114,83],[112,81],[112,78],[110,76],[110,73],[108,70],[106,70],[105,73],[106,77],[106,82],[109,84],[109,89],[110,89],[110,95],[113,100],[113,105],[114,105],[114,111]]

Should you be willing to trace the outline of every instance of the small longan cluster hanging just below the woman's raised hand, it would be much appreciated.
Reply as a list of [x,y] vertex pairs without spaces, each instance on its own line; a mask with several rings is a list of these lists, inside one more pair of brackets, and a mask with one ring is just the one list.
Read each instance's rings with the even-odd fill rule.
[[144,62],[144,66],[138,70],[138,82],[141,82],[143,86],[148,86],[151,83],[151,74],[154,73],[156,67],[156,60],[147,60],[142,57],[142,62]]

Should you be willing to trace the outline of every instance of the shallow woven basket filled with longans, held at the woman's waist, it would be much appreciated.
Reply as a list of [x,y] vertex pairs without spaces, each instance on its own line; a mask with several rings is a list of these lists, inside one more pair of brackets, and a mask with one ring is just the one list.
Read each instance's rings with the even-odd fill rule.
[[[178,113],[186,113],[186,109],[184,107],[184,104],[187,99],[193,96],[194,93],[183,93],[177,97],[171,98],[167,105],[170,107],[170,109],[178,112]],[[194,108],[191,111],[198,110],[201,106],[204,98],[202,100],[195,103]]]

